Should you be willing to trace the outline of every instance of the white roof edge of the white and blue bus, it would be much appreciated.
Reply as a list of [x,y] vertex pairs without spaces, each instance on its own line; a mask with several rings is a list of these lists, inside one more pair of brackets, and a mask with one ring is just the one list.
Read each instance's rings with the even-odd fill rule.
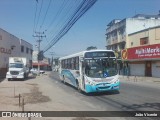
[[86,50],[86,51],[81,51],[81,52],[78,52],[78,53],[75,53],[75,54],[71,54],[71,55],[67,55],[67,56],[64,56],[64,57],[61,57],[59,58],[59,60],[63,60],[63,59],[67,59],[67,58],[72,58],[72,57],[77,57],[77,56],[84,56],[84,54],[86,52],[100,52],[100,51],[106,51],[106,52],[114,52],[113,50],[100,50],[100,49],[95,49],[95,50]]

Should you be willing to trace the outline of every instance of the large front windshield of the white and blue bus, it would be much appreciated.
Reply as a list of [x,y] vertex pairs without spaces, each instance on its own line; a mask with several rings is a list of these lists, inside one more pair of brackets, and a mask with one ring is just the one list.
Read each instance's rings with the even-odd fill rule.
[[85,74],[92,78],[106,78],[117,75],[117,63],[114,58],[85,59]]

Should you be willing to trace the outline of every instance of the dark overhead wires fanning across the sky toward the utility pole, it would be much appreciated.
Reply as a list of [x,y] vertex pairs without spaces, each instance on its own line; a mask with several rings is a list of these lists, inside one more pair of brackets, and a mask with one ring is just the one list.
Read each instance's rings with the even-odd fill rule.
[[[58,19],[58,17],[60,18],[60,14],[62,13],[62,11],[64,11],[65,15],[63,15],[62,19],[60,19],[58,22],[58,24],[61,23],[61,26],[59,27],[58,24],[54,26],[54,29],[55,27],[58,27],[59,29],[55,32],[50,32],[50,34],[52,34],[52,37],[50,38],[51,40],[44,47],[43,52],[45,53],[52,46],[54,46],[71,29],[71,27],[77,22],[77,20],[80,19],[84,15],[84,13],[86,13],[96,3],[96,1],[97,0],[74,0],[74,4],[71,4],[68,2],[68,0],[67,1],[63,0],[63,3],[61,3],[61,7],[59,11],[54,16],[54,18],[52,19],[51,23],[49,24],[48,28],[46,28],[45,31],[48,31],[51,28],[52,24],[56,22],[56,19]],[[71,2],[73,3],[73,1]],[[43,0],[41,2],[38,20],[37,20],[37,23],[35,23],[34,30],[36,30],[37,24],[39,22],[39,16],[42,9],[42,4],[43,4]],[[42,24],[40,24],[40,27],[39,27],[40,29],[42,29],[44,25],[44,21],[46,19],[50,5],[51,5],[51,0],[48,4]],[[37,8],[36,8],[36,12],[37,12]],[[62,22],[63,20],[64,22]]]

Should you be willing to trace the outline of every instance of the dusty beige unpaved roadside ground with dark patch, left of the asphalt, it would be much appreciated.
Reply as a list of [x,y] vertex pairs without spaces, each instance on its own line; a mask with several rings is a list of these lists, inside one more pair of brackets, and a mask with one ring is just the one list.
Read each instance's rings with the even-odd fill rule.
[[[66,98],[72,95],[65,94],[58,89],[57,82],[50,80],[49,73],[30,77],[25,81],[8,81],[0,83],[0,111],[76,111],[82,109],[81,104],[71,103]],[[59,94],[60,93],[60,94]],[[19,103],[19,94],[21,100]],[[23,99],[24,98],[24,99]],[[72,98],[77,101],[78,98]],[[24,102],[23,102],[24,100]],[[84,102],[85,103],[85,102]],[[83,104],[83,101],[82,101]],[[75,105],[75,106],[74,106]],[[105,120],[103,118],[84,117],[42,117],[42,118],[1,118],[2,120]],[[109,120],[113,120],[109,118]],[[125,120],[125,119],[121,119]]]

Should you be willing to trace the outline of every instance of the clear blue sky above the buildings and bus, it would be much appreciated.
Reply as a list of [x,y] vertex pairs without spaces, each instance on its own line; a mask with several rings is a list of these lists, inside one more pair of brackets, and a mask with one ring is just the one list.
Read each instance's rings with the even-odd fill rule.
[[[36,0],[0,0],[0,28],[33,44],[34,50],[37,50],[35,47],[37,38],[33,37],[34,28],[37,26],[37,30],[40,30],[49,1],[43,1],[43,9],[39,15],[42,0],[38,0],[38,4]],[[64,1],[52,0],[52,4],[49,6],[43,28],[41,28],[46,35],[41,42],[41,49],[44,49],[52,36],[56,35],[58,25],[62,26],[67,18],[68,13],[64,8],[63,14],[56,19],[56,11],[60,9]],[[70,3],[66,2],[66,4],[72,8],[71,2],[80,1],[70,0]],[[97,0],[45,55],[50,56],[51,53],[54,53],[54,57],[61,57],[86,50],[89,46],[106,49],[106,28],[113,19],[125,19],[136,14],[155,15],[159,13],[159,10],[160,0]],[[50,25],[52,19],[55,21],[53,25]]]

